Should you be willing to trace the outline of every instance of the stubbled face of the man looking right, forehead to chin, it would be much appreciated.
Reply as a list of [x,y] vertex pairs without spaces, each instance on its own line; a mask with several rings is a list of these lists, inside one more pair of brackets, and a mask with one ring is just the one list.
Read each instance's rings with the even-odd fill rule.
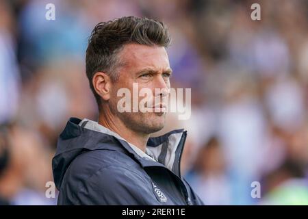
[[[123,62],[123,66],[120,67],[118,80],[112,83],[110,92],[112,113],[133,131],[146,134],[159,131],[165,125],[166,112],[162,111],[166,110],[166,108],[162,107],[162,105],[166,104],[166,97],[168,97],[170,91],[171,69],[166,49],[164,47],[127,44],[118,55],[121,62]],[[153,101],[150,104],[144,104],[147,110],[151,110],[151,112],[140,112],[140,109],[138,109],[138,112],[133,112],[133,101],[136,101],[136,96],[133,96],[136,94],[133,91],[133,84],[135,85],[135,90],[138,84],[137,95],[142,88],[151,91]],[[123,98],[117,96],[120,88],[130,90],[131,112],[118,112],[118,101]],[[162,92],[157,92],[155,88]],[[142,99],[144,99],[144,96],[138,95],[138,106]]]

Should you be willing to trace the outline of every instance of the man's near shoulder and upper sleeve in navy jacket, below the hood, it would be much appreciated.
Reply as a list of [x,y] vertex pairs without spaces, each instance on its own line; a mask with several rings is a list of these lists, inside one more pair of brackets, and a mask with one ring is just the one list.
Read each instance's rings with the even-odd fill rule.
[[[101,154],[102,153],[102,154]],[[60,203],[85,205],[157,204],[151,178],[117,151],[86,152],[66,172]]]

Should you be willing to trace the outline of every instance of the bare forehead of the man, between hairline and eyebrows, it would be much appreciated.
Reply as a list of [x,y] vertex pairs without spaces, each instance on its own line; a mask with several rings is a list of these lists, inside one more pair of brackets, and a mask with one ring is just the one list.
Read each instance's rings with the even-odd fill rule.
[[164,47],[126,44],[120,51],[120,59],[127,68],[153,68],[165,70],[170,68],[168,55]]

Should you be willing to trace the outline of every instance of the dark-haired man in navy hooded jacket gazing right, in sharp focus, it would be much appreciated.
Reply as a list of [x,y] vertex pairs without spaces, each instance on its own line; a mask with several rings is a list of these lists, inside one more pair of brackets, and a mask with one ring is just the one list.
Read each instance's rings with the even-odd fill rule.
[[[60,135],[53,157],[59,205],[203,204],[180,174],[186,132],[149,138],[165,123],[169,42],[164,24],[147,18],[123,17],[94,28],[86,73],[99,120],[70,118]],[[118,90],[134,93],[133,84],[159,102],[146,104],[146,112],[120,112]]]

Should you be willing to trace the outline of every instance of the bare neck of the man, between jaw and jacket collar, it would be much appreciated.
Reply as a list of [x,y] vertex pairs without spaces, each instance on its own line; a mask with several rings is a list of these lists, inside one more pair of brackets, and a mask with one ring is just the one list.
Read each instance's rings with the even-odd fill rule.
[[125,124],[117,116],[110,112],[107,108],[104,112],[99,113],[99,125],[103,125],[107,129],[114,131],[119,136],[127,140],[127,142],[137,146],[145,153],[146,142],[149,140],[149,134],[133,131],[125,126]]

